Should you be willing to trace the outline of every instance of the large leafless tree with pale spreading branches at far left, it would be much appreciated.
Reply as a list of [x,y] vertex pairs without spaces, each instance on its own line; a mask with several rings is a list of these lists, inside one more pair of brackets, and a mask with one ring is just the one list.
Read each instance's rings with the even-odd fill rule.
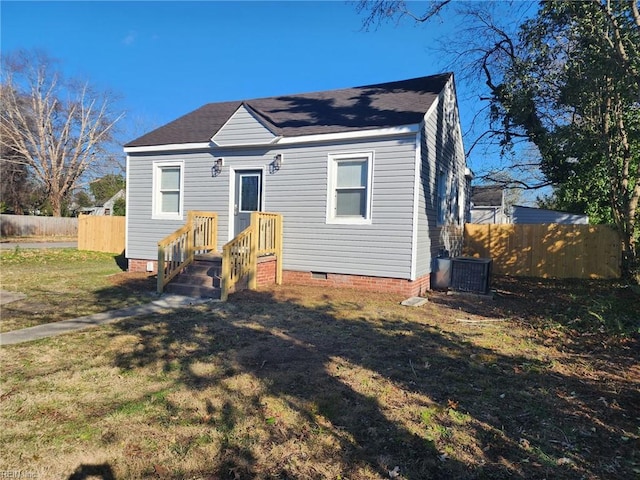
[[0,144],[41,184],[54,216],[79,179],[99,164],[116,122],[112,96],[65,80],[42,52],[2,59]]

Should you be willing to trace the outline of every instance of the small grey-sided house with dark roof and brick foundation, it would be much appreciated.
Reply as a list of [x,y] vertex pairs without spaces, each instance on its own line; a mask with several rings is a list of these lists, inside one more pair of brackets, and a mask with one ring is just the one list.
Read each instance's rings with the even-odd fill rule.
[[[415,295],[468,213],[453,74],[210,103],[125,145],[130,270],[189,210],[284,219],[284,282]],[[154,268],[157,268],[154,266]]]

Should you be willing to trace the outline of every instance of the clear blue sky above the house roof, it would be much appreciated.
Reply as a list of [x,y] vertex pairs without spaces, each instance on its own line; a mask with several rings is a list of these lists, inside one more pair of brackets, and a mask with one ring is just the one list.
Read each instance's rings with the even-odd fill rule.
[[[124,140],[209,102],[445,71],[437,42],[455,28],[407,19],[365,31],[355,3],[343,1],[2,1],[0,9],[2,53],[44,49],[67,75],[119,94]],[[458,95],[466,130],[477,95],[461,85]],[[469,158],[475,171],[488,161]]]

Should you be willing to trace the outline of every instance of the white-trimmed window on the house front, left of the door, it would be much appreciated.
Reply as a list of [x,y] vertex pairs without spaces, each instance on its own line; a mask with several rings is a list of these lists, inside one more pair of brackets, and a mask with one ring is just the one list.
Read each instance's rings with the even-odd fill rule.
[[182,220],[182,162],[153,164],[153,218]]

